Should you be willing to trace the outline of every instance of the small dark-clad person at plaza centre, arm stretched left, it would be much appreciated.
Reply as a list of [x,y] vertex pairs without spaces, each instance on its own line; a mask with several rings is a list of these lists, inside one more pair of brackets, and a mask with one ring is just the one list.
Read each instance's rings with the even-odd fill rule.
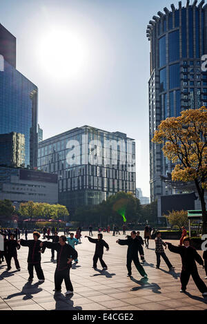
[[85,238],[88,238],[89,242],[95,243],[96,249],[95,249],[95,255],[93,256],[93,268],[97,269],[97,261],[99,259],[101,263],[101,267],[103,267],[103,270],[107,270],[108,267],[106,263],[103,261],[103,247],[106,247],[106,251],[109,250],[108,244],[103,240],[103,234],[98,234],[98,238],[90,238],[89,236],[85,236]]

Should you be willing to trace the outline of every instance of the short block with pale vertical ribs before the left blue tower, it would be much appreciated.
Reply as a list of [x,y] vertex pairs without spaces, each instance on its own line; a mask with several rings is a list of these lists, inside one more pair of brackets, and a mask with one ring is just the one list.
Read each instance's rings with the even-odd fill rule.
[[25,137],[20,133],[0,135],[0,165],[25,166]]

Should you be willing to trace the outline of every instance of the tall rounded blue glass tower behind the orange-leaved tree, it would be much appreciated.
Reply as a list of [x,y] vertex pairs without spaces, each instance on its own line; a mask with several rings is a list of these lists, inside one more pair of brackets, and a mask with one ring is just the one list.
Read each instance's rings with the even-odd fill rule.
[[171,194],[160,176],[171,173],[174,165],[164,158],[161,145],[151,142],[161,120],[177,117],[189,108],[207,106],[207,73],[202,56],[207,54],[207,5],[197,1],[190,6],[157,12],[150,20],[150,198]]

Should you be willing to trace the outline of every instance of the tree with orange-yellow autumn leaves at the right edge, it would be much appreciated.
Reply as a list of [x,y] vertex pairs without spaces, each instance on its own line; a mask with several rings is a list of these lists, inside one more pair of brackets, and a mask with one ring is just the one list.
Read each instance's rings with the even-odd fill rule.
[[182,111],[179,117],[162,121],[152,142],[164,144],[162,151],[176,163],[173,181],[194,181],[201,201],[203,234],[207,234],[204,200],[207,188],[207,108]]

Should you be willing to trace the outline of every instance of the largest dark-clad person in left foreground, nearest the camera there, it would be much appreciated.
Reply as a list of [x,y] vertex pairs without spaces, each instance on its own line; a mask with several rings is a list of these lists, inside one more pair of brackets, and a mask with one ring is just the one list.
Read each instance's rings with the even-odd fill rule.
[[57,267],[55,270],[55,292],[61,292],[63,279],[66,284],[66,295],[73,294],[73,287],[70,281],[70,267],[72,260],[77,259],[77,251],[66,243],[66,236],[60,236],[58,243],[42,242],[41,247],[55,249],[57,251]]

